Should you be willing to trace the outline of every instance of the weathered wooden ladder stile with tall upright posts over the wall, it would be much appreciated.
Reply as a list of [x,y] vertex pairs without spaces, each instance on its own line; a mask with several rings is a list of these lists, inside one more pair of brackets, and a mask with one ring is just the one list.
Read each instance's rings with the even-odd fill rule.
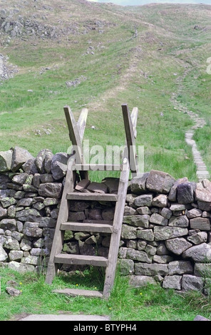
[[[123,120],[125,125],[126,144],[123,152],[123,163],[121,165],[89,165],[84,162],[82,151],[83,134],[86,127],[86,118],[88,110],[83,108],[78,123],[73,117],[73,113],[68,106],[64,107],[66,121],[68,124],[69,137],[71,139],[73,150],[68,160],[66,173],[66,182],[63,188],[61,205],[58,213],[56,230],[51,248],[51,255],[48,262],[46,282],[51,284],[56,275],[59,264],[80,264],[106,267],[105,282],[103,292],[79,290],[79,289],[58,289],[54,292],[68,294],[72,296],[83,295],[86,297],[108,298],[110,296],[113,282],[115,279],[115,268],[118,260],[118,249],[120,242],[120,233],[123,222],[125,207],[125,197],[128,190],[128,180],[130,170],[134,177],[138,173],[137,155],[135,154],[136,123],[138,117],[138,108],[133,108],[130,115],[128,105],[122,105]],[[76,192],[77,171],[80,173],[81,180],[88,180],[88,170],[119,170],[120,180],[117,194],[101,194]],[[68,222],[68,212],[70,200],[96,200],[100,202],[114,202],[115,212],[112,224],[108,222]],[[82,254],[64,254],[63,237],[66,230],[75,232],[96,232],[110,234],[110,247],[108,257],[88,256]]]

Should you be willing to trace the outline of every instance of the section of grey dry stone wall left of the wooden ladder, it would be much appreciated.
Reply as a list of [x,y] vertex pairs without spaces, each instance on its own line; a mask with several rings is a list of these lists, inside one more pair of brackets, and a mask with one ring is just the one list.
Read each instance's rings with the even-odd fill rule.
[[[20,272],[48,259],[68,157],[15,147],[0,153],[0,262]],[[1,263],[2,264],[2,263]]]

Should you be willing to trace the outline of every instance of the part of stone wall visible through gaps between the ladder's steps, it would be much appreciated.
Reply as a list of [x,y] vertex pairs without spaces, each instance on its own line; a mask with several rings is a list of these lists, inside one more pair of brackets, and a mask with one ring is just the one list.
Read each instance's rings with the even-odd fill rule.
[[[105,177],[102,182],[82,180],[76,185],[75,192],[91,192],[99,194],[116,194],[118,192],[118,178]],[[99,201],[70,201],[68,221],[70,222],[100,222],[113,224],[115,205],[113,202]],[[90,256],[108,257],[110,234],[91,232],[70,232],[64,235],[63,252],[67,254],[86,254]],[[70,271],[73,266],[63,266]]]

